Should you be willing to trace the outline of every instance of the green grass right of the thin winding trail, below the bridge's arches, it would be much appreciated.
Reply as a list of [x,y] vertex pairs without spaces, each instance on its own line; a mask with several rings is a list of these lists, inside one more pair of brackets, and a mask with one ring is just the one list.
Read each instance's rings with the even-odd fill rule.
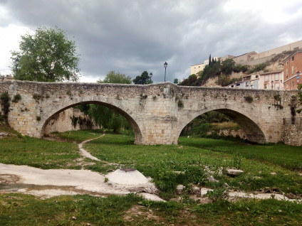
[[[199,140],[204,141],[205,144],[202,145]],[[276,187],[284,193],[302,194],[302,177],[296,171],[290,171],[284,168],[282,164],[263,163],[256,159],[241,156],[239,150],[241,150],[242,146],[252,147],[247,144],[238,144],[236,146],[235,144],[237,143],[232,141],[212,139],[186,140],[184,138],[180,139],[182,146],[140,146],[132,143],[133,138],[131,136],[106,134],[101,139],[95,139],[85,144],[85,149],[100,160],[118,163],[123,167],[134,167],[145,176],[152,177],[157,188],[161,190],[160,195],[165,199],[175,195],[175,188],[179,183],[184,185],[194,183],[209,188],[222,188],[224,183],[227,183],[233,189],[246,191]],[[192,146],[189,146],[189,144]],[[229,146],[234,151],[230,153],[216,151],[214,144],[218,147]],[[264,147],[269,149],[272,146]],[[293,148],[293,154],[288,158],[294,158],[293,156],[298,151],[296,147],[289,147],[289,149],[291,148]],[[244,171],[240,176],[230,178],[225,174],[223,176],[218,175],[220,167],[224,169],[232,168],[238,166],[239,163],[239,168]],[[108,168],[108,166],[104,167],[102,164],[96,163],[94,166],[87,166],[87,168],[108,173],[110,170],[120,166]],[[205,166],[217,172],[216,174],[214,173],[214,177],[219,180],[219,183],[207,181],[207,176],[204,172]],[[175,171],[184,171],[184,174],[177,174]],[[277,174],[271,175],[271,173]]]

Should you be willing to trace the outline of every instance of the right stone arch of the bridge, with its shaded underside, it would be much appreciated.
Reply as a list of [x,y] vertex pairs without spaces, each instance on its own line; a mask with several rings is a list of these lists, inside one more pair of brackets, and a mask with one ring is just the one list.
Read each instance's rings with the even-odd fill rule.
[[189,124],[193,119],[198,117],[199,115],[202,115],[207,112],[220,112],[223,114],[226,114],[231,119],[233,119],[239,126],[243,129],[244,133],[246,134],[246,138],[249,141],[257,142],[260,144],[264,144],[267,141],[266,135],[262,131],[261,127],[259,127],[260,123],[257,119],[252,119],[251,117],[247,116],[245,112],[242,112],[241,109],[236,109],[231,106],[225,106],[222,104],[214,105],[211,107],[208,107],[207,109],[200,109],[193,114],[189,114],[186,117],[184,117],[184,120],[182,120],[182,123],[178,124],[178,134],[177,139],[182,132],[182,129]]

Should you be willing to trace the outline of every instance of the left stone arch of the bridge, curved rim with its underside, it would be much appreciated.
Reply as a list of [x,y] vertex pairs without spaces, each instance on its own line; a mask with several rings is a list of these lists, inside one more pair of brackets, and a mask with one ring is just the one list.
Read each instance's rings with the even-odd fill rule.
[[48,124],[48,122],[53,119],[53,117],[56,117],[56,115],[58,115],[59,113],[63,112],[64,110],[71,108],[71,107],[75,107],[79,104],[99,104],[105,107],[109,107],[110,109],[114,109],[115,112],[118,112],[119,114],[123,115],[123,117],[125,117],[125,119],[127,119],[128,122],[130,122],[133,130],[134,130],[134,134],[135,134],[135,144],[142,144],[142,131],[140,129],[139,124],[137,124],[137,122],[135,121],[135,119],[133,119],[130,114],[128,114],[125,109],[122,109],[121,107],[117,107],[115,106],[115,104],[110,104],[108,102],[102,102],[102,101],[95,101],[95,100],[91,100],[91,101],[80,101],[80,102],[75,102],[72,104],[69,104],[65,107],[61,107],[59,109],[54,109],[52,112],[48,112],[48,114],[46,114],[43,117],[43,122],[41,123],[41,129],[40,129],[40,136],[43,136],[45,133],[45,129],[46,129],[46,125]]

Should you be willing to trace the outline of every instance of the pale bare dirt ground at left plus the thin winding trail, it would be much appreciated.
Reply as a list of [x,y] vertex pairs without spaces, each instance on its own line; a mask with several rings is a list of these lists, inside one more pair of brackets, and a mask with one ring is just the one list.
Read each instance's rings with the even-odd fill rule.
[[[102,136],[105,136],[105,134]],[[102,136],[94,139],[98,139]],[[100,161],[100,159],[95,158],[83,149],[83,144],[92,140],[93,139],[89,139],[78,144],[80,155],[83,156],[83,158]],[[83,162],[83,158],[78,159],[78,161]],[[135,185],[108,183],[108,180],[105,180],[107,177],[110,177],[110,173],[104,176],[97,172],[84,170],[83,168],[81,170],[43,170],[31,166],[16,166],[0,163],[0,193],[16,192],[37,195],[41,198],[50,198],[56,195],[76,194],[126,195],[131,192],[141,192],[142,190],[148,190],[148,188],[149,190],[154,190],[155,188],[155,185],[149,181]],[[149,193],[142,193],[142,196],[150,200],[161,200],[156,195]]]

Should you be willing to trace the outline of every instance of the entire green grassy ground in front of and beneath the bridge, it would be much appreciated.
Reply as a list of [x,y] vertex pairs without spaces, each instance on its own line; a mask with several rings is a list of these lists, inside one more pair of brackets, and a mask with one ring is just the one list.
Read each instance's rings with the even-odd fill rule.
[[[61,141],[16,136],[0,139],[0,162],[38,168],[81,168],[77,144],[102,131],[54,134]],[[64,142],[62,142],[64,141]],[[187,186],[180,202],[156,203],[137,195],[107,198],[90,195],[59,196],[41,200],[32,195],[0,192],[0,225],[302,225],[302,204],[286,201],[222,199],[226,189],[260,191],[267,187],[288,197],[301,198],[301,147],[251,145],[242,142],[180,137],[179,145],[134,145],[134,137],[106,134],[84,148],[102,162],[84,168],[108,173],[134,167],[151,176],[166,200],[175,198],[175,187]],[[119,166],[105,162],[118,163]],[[300,162],[300,163],[299,163]],[[244,171],[238,177],[226,168]],[[204,168],[219,183],[207,181]],[[219,171],[223,168],[223,174]],[[184,173],[176,173],[182,171]],[[271,174],[273,173],[273,174]],[[274,174],[276,173],[276,175]],[[190,198],[192,185],[214,188],[214,203]]]

